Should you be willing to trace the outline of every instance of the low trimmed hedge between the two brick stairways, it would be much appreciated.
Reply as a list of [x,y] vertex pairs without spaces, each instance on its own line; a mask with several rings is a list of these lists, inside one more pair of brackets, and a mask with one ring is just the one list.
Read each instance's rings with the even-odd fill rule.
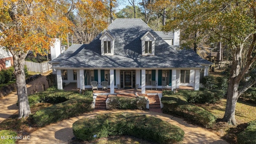
[[121,109],[121,110],[145,110],[147,100],[145,97],[138,96],[137,98],[126,98],[112,96],[108,101],[108,108],[111,109]]

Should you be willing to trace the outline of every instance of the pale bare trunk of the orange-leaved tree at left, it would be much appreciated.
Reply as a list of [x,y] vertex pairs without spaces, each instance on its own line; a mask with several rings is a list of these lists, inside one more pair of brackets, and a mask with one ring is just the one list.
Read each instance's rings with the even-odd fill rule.
[[26,76],[24,71],[26,53],[18,55],[16,52],[12,52],[12,55],[14,60],[14,74],[16,77],[16,87],[19,104],[18,118],[28,117],[31,114],[31,111],[28,104],[28,92],[26,87]]

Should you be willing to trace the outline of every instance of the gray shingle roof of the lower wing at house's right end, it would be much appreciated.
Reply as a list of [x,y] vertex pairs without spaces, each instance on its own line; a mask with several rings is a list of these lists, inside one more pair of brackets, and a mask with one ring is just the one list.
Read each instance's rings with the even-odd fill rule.
[[213,64],[212,62],[209,62],[208,60],[205,60],[201,58],[194,50],[178,50],[178,52],[184,56],[185,58],[191,59],[198,64]]

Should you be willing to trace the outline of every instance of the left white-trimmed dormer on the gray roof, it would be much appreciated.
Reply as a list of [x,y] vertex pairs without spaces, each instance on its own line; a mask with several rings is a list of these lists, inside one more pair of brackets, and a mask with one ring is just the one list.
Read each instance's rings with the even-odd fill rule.
[[115,37],[108,31],[104,32],[100,37],[101,55],[113,56]]

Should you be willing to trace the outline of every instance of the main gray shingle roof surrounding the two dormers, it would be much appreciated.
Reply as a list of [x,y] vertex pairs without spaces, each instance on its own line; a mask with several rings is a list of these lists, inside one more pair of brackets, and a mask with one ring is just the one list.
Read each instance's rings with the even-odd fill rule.
[[[202,68],[181,56],[141,19],[116,19],[107,30],[116,38],[114,56],[101,55],[99,34],[90,44],[72,45],[51,61],[60,62],[53,68]],[[156,38],[154,56],[142,56],[140,38],[148,31]]]

